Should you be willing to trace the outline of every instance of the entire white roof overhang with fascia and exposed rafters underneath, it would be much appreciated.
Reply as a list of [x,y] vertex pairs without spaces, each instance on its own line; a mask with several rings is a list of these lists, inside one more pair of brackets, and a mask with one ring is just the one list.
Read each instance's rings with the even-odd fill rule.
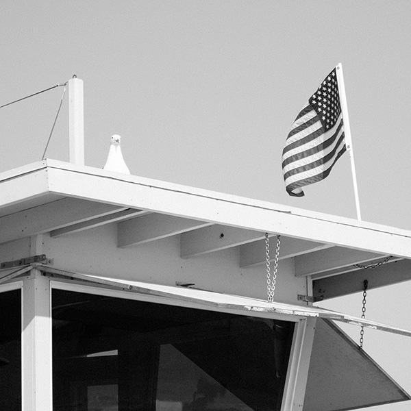
[[[314,279],[318,299],[362,290],[356,264],[387,256],[373,284],[411,279],[411,232],[393,227],[55,160],[1,173],[0,190],[0,244],[117,222],[119,247],[182,234],[182,258],[240,247],[247,268],[264,264],[268,232],[282,236],[279,258],[294,258],[295,275]],[[222,227],[225,237],[210,241]]]

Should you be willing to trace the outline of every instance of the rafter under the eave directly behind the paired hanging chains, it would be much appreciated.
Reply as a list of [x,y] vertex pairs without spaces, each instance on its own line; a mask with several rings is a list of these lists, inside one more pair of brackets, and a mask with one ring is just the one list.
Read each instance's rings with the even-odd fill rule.
[[[277,236],[269,238],[270,243],[270,261],[275,260],[275,247],[277,245]],[[299,238],[281,237],[279,247],[279,260],[301,256],[302,254],[312,253],[313,251],[334,247],[320,242],[300,240]],[[249,244],[240,245],[240,267],[247,268],[265,264],[265,240],[250,242]]]

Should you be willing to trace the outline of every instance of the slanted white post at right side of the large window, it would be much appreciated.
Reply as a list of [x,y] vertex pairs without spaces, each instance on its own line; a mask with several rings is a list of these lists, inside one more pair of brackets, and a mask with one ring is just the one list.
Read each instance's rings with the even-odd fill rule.
[[315,324],[315,318],[308,318],[301,320],[296,326],[288,362],[282,411],[301,411],[303,409]]

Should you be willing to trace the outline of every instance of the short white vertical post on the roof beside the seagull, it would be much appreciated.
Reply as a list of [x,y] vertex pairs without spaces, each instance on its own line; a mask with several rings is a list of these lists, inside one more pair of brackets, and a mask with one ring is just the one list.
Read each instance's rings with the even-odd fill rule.
[[84,166],[83,80],[69,79],[69,151],[70,162]]

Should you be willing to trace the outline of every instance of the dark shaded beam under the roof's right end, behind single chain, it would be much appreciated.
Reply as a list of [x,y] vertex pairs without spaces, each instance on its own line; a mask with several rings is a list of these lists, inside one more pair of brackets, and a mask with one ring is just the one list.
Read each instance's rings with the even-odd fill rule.
[[342,275],[316,279],[313,282],[314,298],[329,299],[362,292],[364,279],[368,281],[368,289],[409,281],[411,261],[388,262],[375,269],[358,269]]

